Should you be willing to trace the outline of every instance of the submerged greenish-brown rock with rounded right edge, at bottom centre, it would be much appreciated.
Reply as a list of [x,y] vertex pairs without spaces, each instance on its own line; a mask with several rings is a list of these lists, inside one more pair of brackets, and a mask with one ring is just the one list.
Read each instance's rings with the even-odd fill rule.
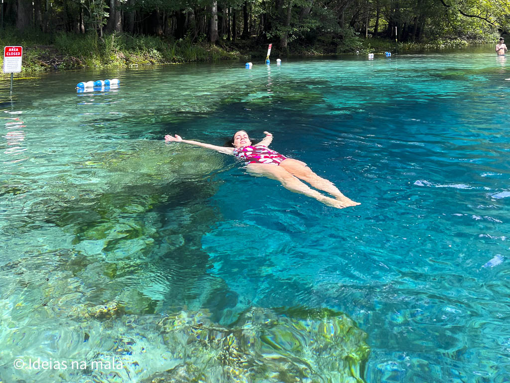
[[342,313],[296,319],[252,308],[224,328],[202,313],[183,312],[160,326],[165,344],[187,357],[144,383],[364,381],[366,334]]

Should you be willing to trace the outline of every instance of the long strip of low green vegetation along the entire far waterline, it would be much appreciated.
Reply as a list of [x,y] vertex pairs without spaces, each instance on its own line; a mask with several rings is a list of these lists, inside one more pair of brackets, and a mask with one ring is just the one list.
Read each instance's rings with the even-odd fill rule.
[[[398,52],[429,49],[451,49],[473,43],[493,43],[492,38],[477,40],[436,39],[428,42],[398,42],[385,38],[362,38],[352,36],[348,41],[320,41],[313,45],[288,46],[285,52],[272,50],[273,56],[306,57],[331,56],[338,54],[384,54],[385,51]],[[261,60],[266,55],[267,43],[239,41],[237,43],[212,44],[208,41],[189,39],[169,39],[150,35],[130,35],[125,33],[95,33],[77,35],[61,32],[58,34],[19,33],[5,30],[0,37],[5,45],[23,46],[23,73],[38,73],[54,70],[123,68],[143,65],[177,64],[220,60]],[[3,64],[0,56],[0,65]],[[0,74],[7,77],[10,74]]]

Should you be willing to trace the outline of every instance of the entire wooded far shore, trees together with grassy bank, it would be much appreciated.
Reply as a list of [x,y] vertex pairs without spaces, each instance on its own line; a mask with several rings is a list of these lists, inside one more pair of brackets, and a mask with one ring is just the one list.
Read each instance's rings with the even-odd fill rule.
[[509,23],[509,0],[4,0],[0,42],[43,68],[129,65],[492,42]]

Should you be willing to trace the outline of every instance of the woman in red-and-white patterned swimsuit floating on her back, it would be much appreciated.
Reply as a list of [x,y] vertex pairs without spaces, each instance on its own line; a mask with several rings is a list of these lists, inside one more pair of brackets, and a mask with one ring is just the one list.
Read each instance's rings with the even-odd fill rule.
[[[209,143],[182,139],[178,135],[172,137],[169,134],[165,136],[165,141],[191,143],[192,145],[236,156],[246,162],[246,169],[248,172],[277,180],[281,182],[285,188],[291,190],[291,192],[313,197],[317,201],[328,206],[341,209],[348,206],[359,205],[358,202],[354,202],[345,197],[333,182],[321,178],[312,172],[310,167],[304,162],[293,158],[287,158],[269,149],[268,146],[273,140],[273,135],[269,132],[264,132],[264,134],[266,137],[262,141],[252,145],[248,133],[244,130],[240,130],[234,134],[232,141],[228,142],[232,147],[210,145]],[[335,198],[320,194],[317,190],[312,189],[300,180],[310,183],[313,187],[323,190]]]

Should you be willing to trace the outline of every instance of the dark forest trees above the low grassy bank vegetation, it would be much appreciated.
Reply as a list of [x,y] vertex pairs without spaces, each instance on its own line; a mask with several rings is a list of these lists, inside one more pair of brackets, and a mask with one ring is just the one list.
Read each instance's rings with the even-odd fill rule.
[[506,33],[510,0],[4,0],[0,28],[124,32],[213,43],[487,39]]

